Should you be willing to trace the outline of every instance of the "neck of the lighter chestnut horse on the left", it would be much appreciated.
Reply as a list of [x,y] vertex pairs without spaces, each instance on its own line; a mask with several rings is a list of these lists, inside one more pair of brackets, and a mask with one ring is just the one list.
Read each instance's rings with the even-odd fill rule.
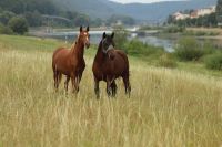
[[74,45],[71,48],[72,56],[77,57],[78,60],[83,60],[84,55],[84,44],[78,39]]

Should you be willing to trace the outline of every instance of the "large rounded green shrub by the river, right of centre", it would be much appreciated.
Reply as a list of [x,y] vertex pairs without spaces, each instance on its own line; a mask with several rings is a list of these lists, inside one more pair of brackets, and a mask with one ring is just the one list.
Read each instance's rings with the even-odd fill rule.
[[194,38],[182,38],[178,42],[176,56],[182,61],[198,61],[204,51]]

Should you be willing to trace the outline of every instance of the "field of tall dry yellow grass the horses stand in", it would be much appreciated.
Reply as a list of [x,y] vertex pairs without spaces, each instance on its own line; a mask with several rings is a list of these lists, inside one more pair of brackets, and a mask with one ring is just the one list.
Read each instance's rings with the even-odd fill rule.
[[[130,56],[131,98],[93,93],[94,49],[75,96],[58,93],[51,56],[63,42],[0,35],[0,147],[221,147],[222,80]],[[71,85],[70,85],[71,87]]]

